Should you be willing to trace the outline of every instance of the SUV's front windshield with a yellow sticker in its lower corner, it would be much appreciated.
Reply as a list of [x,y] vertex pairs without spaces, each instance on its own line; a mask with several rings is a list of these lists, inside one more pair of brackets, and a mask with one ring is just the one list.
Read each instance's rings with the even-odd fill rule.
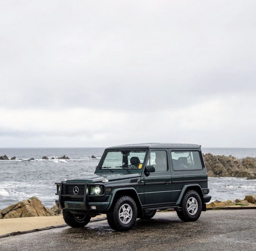
[[104,160],[99,169],[109,169],[114,171],[117,169],[125,169],[127,172],[142,169],[146,150],[119,150],[109,151],[104,156]]

